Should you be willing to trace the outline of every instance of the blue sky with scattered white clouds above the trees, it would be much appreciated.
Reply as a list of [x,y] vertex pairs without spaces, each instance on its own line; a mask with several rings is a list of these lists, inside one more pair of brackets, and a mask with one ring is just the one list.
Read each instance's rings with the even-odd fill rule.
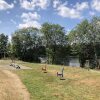
[[60,24],[68,32],[84,19],[100,16],[100,0],[0,0],[0,33]]

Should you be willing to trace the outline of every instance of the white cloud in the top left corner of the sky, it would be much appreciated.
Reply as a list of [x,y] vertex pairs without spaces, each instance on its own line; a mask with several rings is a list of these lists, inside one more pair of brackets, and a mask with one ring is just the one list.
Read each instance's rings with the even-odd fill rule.
[[0,10],[12,9],[14,4],[8,4],[5,0],[0,0]]

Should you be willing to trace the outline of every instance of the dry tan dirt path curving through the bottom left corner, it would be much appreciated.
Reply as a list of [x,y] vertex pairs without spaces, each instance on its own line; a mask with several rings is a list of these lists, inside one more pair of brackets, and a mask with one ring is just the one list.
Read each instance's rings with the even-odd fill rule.
[[19,77],[9,70],[0,70],[0,100],[30,100]]

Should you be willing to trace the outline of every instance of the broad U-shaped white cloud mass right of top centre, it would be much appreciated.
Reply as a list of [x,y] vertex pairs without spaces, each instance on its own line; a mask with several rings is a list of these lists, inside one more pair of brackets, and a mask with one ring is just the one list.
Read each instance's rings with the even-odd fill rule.
[[53,7],[57,14],[66,18],[82,18],[82,12],[87,9],[88,2],[76,3],[73,7],[68,5],[68,2],[62,3],[60,0],[53,1]]

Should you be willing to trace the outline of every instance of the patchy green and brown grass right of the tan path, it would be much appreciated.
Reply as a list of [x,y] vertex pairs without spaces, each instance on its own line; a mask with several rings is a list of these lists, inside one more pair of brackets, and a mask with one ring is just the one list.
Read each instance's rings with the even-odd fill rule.
[[99,72],[65,67],[66,80],[59,80],[56,72],[61,66],[48,65],[48,73],[43,73],[43,65],[18,63],[33,68],[16,71],[28,88],[31,100],[100,100]]

